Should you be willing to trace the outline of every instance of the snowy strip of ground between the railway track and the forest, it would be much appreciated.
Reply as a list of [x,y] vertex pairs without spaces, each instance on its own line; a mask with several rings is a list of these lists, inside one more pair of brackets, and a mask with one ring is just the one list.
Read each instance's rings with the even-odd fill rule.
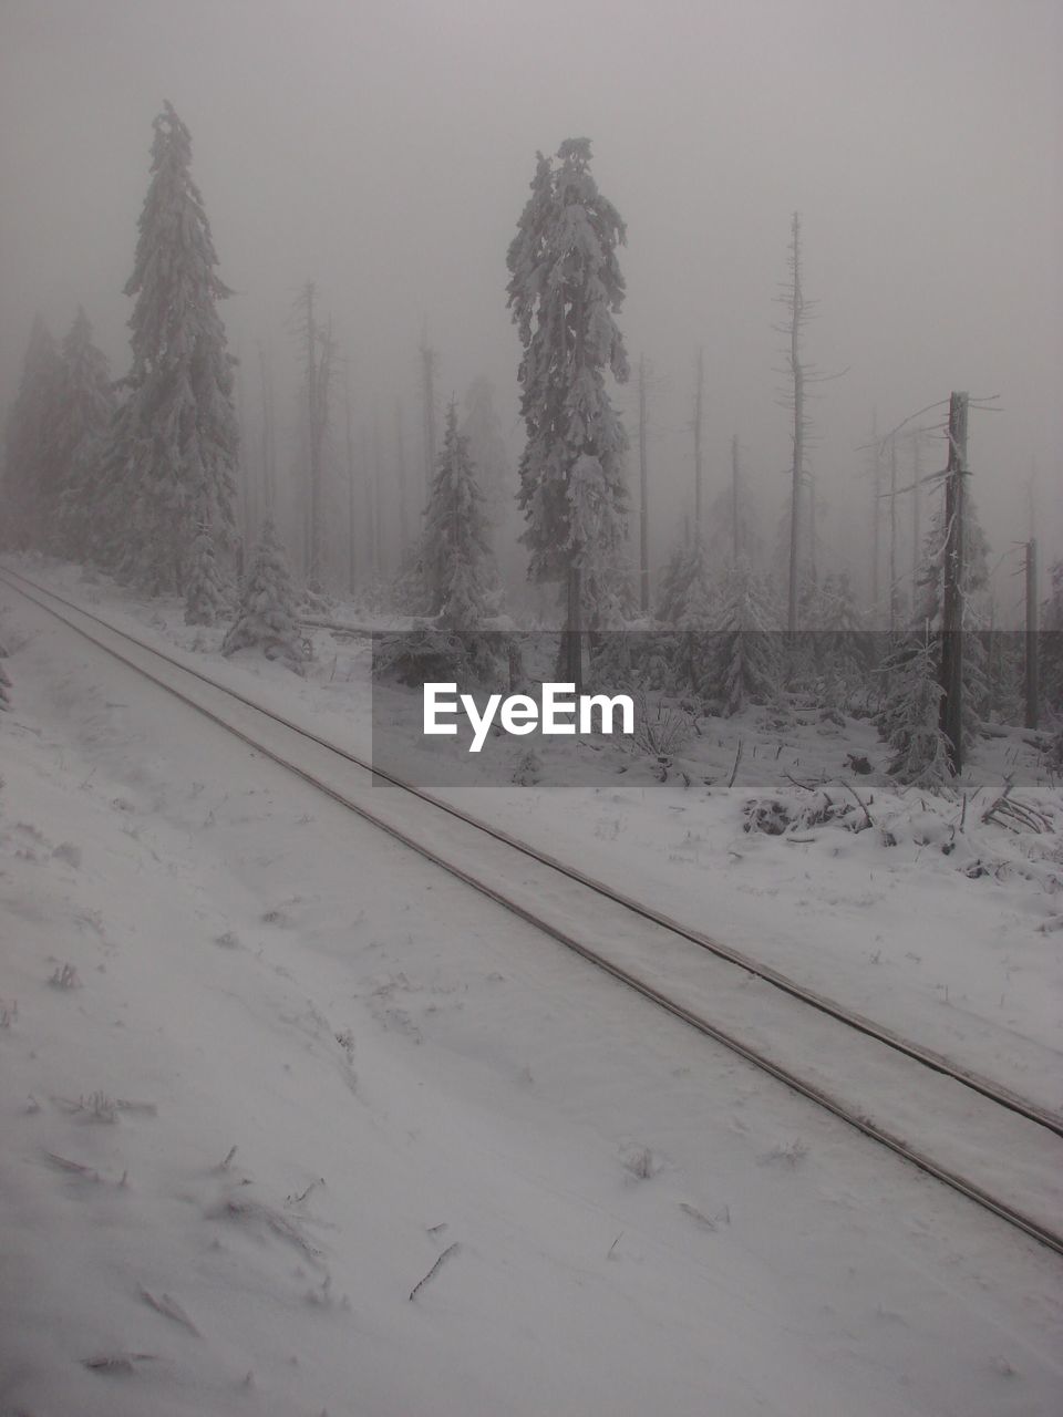
[[[299,679],[261,656],[223,659],[221,632],[186,626],[180,602],[146,606],[77,567],[38,561],[27,571],[145,640],[186,652],[190,665],[292,721],[370,754],[364,640],[315,631],[315,659]],[[336,618],[364,615],[339,606]],[[420,697],[376,693],[377,721],[391,718],[411,744]],[[979,743],[955,801],[897,791],[877,771],[884,750],[867,723],[839,726],[815,713],[782,721],[750,710],[703,721],[675,744],[663,782],[652,758],[601,740],[556,738],[530,774],[520,771],[520,741],[489,740],[478,764],[458,745],[454,752],[485,782],[522,778],[439,789],[472,815],[1043,1107],[1063,1107],[1063,784],[1020,730]],[[876,771],[856,775],[852,757]],[[404,767],[429,782],[438,774],[438,760],[418,764],[415,751]],[[1043,812],[1047,830],[982,820],[1008,779]],[[829,805],[798,785],[821,781]],[[758,809],[791,825],[780,835],[746,830]]]

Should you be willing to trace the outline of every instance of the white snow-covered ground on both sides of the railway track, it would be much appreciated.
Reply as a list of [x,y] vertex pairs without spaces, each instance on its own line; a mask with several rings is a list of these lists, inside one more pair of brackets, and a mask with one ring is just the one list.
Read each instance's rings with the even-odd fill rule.
[[[47,575],[367,747],[357,646],[317,632],[298,680]],[[1,1411],[1059,1411],[1046,1251],[3,588],[0,636]],[[798,726],[761,777],[741,731],[730,792],[628,760],[615,786],[462,795],[1059,1105],[1059,839],[971,820],[943,856],[880,784],[893,847],[746,833],[777,762],[874,745]],[[984,798],[1018,745],[989,747]]]

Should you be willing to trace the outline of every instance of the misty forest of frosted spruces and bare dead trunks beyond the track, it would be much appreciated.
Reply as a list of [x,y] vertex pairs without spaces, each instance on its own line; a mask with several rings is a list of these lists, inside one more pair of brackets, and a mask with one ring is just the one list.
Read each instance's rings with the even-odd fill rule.
[[[469,683],[489,667],[471,663],[476,631],[557,622],[558,673],[577,689],[587,638],[597,677],[614,689],[649,686],[727,716],[797,694],[828,713],[872,716],[890,772],[930,788],[962,767],[982,723],[1036,728],[1046,707],[1057,716],[1063,558],[1045,548],[1042,599],[1035,480],[1003,472],[1029,506],[1023,543],[995,554],[978,513],[979,414],[992,414],[999,395],[948,391],[943,370],[928,404],[894,427],[880,428],[872,410],[848,485],[829,499],[818,486],[815,385],[843,374],[823,374],[812,359],[816,300],[799,213],[785,245],[780,234],[782,414],[764,414],[787,417],[791,465],[785,495],[768,500],[737,432],[729,465],[707,466],[702,347],[686,371],[689,456],[653,466],[659,376],[646,354],[632,370],[619,324],[626,228],[598,190],[588,139],[537,154],[505,254],[522,350],[524,441],[514,458],[486,376],[461,404],[449,397],[439,428],[441,350],[427,336],[417,349],[418,436],[405,429],[407,388],[374,402],[369,422],[363,411],[356,434],[357,351],[340,346],[313,281],[292,300],[302,370],[293,407],[278,407],[259,344],[258,421],[241,419],[221,305],[232,290],[193,177],[191,135],[169,102],[153,135],[125,286],[129,371],[112,377],[84,306],[61,341],[35,320],[7,417],[9,550],[92,565],[146,595],[180,595],[190,625],[232,621],[225,652],[258,643],[293,663],[299,615],[334,615],[337,597],[360,621],[398,612],[456,632],[452,663],[434,655],[432,672]],[[618,388],[632,383],[625,421]],[[653,537],[655,483],[666,479],[679,510],[663,513]],[[848,529],[846,554],[823,521]],[[1016,567],[1022,598],[1009,578]],[[618,646],[617,633],[631,629],[643,633]],[[1043,656],[1039,629],[1056,632]],[[1057,738],[1057,767],[1060,754]]]

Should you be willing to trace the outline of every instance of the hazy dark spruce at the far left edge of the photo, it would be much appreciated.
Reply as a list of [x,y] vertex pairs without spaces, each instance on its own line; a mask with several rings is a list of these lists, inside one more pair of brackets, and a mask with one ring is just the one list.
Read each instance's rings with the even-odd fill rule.
[[47,540],[58,478],[54,424],[60,381],[60,351],[38,316],[4,429],[0,541],[11,551],[41,550]]

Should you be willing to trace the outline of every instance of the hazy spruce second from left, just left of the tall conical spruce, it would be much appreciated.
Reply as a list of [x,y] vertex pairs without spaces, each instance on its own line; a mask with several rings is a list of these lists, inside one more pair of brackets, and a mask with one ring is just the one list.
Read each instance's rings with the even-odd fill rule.
[[92,326],[78,307],[62,343],[55,411],[58,495],[51,544],[71,561],[86,561],[99,526],[102,461],[115,417],[115,388],[106,356],[92,343]]

